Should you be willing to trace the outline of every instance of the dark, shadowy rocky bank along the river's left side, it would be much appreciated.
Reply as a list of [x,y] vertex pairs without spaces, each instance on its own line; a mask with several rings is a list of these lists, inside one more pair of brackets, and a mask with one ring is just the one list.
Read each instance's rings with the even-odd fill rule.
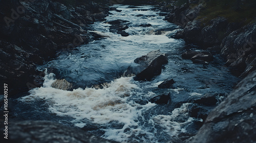
[[101,36],[89,25],[108,15],[106,1],[63,5],[56,1],[0,1],[0,79],[9,96],[42,84],[37,65]]

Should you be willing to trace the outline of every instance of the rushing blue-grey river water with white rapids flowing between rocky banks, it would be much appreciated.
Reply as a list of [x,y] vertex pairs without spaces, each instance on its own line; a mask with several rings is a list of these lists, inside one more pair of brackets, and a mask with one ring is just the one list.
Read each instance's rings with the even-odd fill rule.
[[[160,11],[153,6],[115,7],[122,12],[111,11],[106,21],[129,21],[125,23],[129,27],[125,31],[130,36],[109,32],[111,25],[106,21],[95,22],[91,31],[105,38],[73,51],[63,51],[58,58],[38,67],[54,67],[58,72],[56,75],[48,72],[43,87],[15,100],[13,116],[17,120],[51,120],[77,126],[120,142],[166,142],[179,134],[196,133],[196,122],[200,119],[189,117],[191,103],[185,102],[187,98],[228,93],[238,78],[222,66],[219,56],[208,65],[182,59],[181,54],[193,46],[182,39],[170,38],[178,27],[164,21],[164,16],[159,16]],[[152,26],[140,27],[147,23]],[[156,35],[158,31],[160,35]],[[168,56],[161,75],[152,81],[122,77],[124,70],[135,64],[134,59],[155,50]],[[75,89],[52,88],[55,77],[65,78]],[[174,89],[157,88],[166,78],[176,81]],[[108,84],[102,89],[92,88],[102,83]],[[172,102],[167,105],[148,102],[163,92],[170,92]]]

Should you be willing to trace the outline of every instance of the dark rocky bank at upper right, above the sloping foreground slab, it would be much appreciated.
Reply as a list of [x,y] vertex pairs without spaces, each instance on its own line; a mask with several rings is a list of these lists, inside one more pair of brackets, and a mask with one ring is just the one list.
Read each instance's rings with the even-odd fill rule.
[[[216,4],[208,1],[189,2],[180,7],[173,6],[172,9],[168,9],[170,13],[165,19],[182,28],[174,38],[184,38],[189,43],[199,45],[201,49],[221,54],[226,61],[225,66],[236,71],[237,76],[244,78],[255,70],[256,22],[255,17],[246,15],[247,11],[253,11],[250,10],[253,9],[251,6],[247,6],[247,1],[241,3],[243,8],[239,10],[233,6],[234,2],[226,4],[219,1]],[[217,8],[216,11],[210,11],[214,9],[212,7],[221,8],[218,11]],[[231,14],[228,16],[223,14],[226,12],[224,7],[227,7],[226,9],[230,12],[242,13],[241,16],[244,14],[244,18],[236,21],[240,15],[232,17]],[[218,12],[220,14],[214,15]],[[248,21],[249,18],[251,18],[250,21]]]

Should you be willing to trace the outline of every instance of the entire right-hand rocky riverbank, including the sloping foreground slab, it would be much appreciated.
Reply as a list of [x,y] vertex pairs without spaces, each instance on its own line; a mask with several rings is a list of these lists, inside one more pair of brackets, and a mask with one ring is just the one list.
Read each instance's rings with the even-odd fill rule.
[[[253,10],[251,10],[251,6],[247,5],[249,4],[247,1],[241,2],[241,6],[235,6],[236,10],[233,11],[242,13],[241,16],[244,18],[236,21],[239,14],[234,18],[231,14],[226,16],[217,10],[210,11],[214,9],[211,7],[212,3],[189,1],[189,4],[174,6],[174,2],[164,3],[162,7],[170,11],[165,19],[182,28],[174,38],[183,38],[188,43],[197,44],[205,50],[200,53],[202,54],[200,56],[204,58],[211,55],[210,53],[220,54],[226,61],[225,66],[230,67],[237,76],[244,78],[234,87],[228,97],[209,113],[199,132],[187,139],[186,142],[254,142],[256,22],[255,17],[245,15],[247,11],[252,12]],[[233,5],[234,2],[223,4],[218,1],[217,3],[227,7]],[[251,3],[251,5],[253,4]],[[169,5],[173,5],[173,7],[166,8]],[[233,8],[234,6],[230,6],[225,11],[232,11]],[[218,16],[212,14],[218,12],[220,13],[217,14]],[[250,18],[251,20],[248,20]],[[195,62],[193,58],[196,54],[194,51],[188,50],[182,57],[191,59],[194,63],[205,61]]]

